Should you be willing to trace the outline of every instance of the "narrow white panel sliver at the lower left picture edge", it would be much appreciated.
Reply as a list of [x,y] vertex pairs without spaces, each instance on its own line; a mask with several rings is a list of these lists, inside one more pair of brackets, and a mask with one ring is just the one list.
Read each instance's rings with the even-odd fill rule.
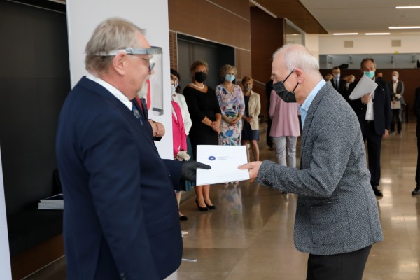
[[12,279],[6,220],[6,202],[4,201],[3,167],[0,152],[0,279]]

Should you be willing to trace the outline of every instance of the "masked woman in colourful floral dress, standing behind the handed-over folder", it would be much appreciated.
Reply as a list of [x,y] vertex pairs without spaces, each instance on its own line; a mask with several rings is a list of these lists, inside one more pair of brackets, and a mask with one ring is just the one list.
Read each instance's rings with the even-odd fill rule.
[[221,85],[216,86],[216,97],[222,112],[219,144],[241,145],[241,118],[244,116],[245,102],[241,87],[233,83],[237,69],[235,66],[225,64],[219,69],[219,74],[223,80]]

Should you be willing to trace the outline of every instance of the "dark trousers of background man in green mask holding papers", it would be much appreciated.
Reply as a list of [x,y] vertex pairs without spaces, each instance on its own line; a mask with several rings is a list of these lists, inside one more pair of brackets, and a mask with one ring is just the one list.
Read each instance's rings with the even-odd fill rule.
[[367,121],[367,130],[363,140],[367,142],[367,158],[369,162],[370,184],[379,186],[381,180],[381,144],[383,135],[378,135],[374,130],[374,123]]

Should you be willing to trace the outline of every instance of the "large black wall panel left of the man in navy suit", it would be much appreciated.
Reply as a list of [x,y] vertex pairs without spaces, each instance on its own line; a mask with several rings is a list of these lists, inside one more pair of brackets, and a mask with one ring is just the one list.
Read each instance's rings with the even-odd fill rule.
[[57,117],[70,90],[66,15],[0,1],[0,145],[7,214],[52,194]]

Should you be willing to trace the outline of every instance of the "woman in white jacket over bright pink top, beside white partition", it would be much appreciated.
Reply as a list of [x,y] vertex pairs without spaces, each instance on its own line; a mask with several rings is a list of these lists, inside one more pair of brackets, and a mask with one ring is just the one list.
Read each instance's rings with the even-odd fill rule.
[[[190,160],[192,155],[192,148],[188,149],[188,132],[191,128],[191,117],[188,112],[188,106],[185,97],[182,94],[176,94],[179,89],[179,73],[171,69],[171,97],[172,97],[172,134],[174,137],[174,159],[186,161]],[[191,144],[190,144],[191,145]],[[191,189],[191,182],[184,181],[181,190],[175,191],[178,208],[180,207],[181,195],[183,191]],[[188,220],[188,217],[179,212],[179,219],[181,221]],[[183,234],[187,232],[183,231]]]

